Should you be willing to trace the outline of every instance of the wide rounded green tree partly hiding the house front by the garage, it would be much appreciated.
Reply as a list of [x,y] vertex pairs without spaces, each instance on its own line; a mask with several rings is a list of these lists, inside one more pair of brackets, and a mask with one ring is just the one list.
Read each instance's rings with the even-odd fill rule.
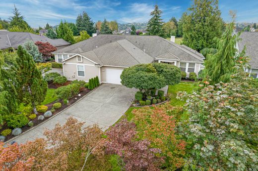
[[144,92],[179,83],[181,71],[176,66],[163,63],[138,64],[124,69],[121,80],[122,85]]

